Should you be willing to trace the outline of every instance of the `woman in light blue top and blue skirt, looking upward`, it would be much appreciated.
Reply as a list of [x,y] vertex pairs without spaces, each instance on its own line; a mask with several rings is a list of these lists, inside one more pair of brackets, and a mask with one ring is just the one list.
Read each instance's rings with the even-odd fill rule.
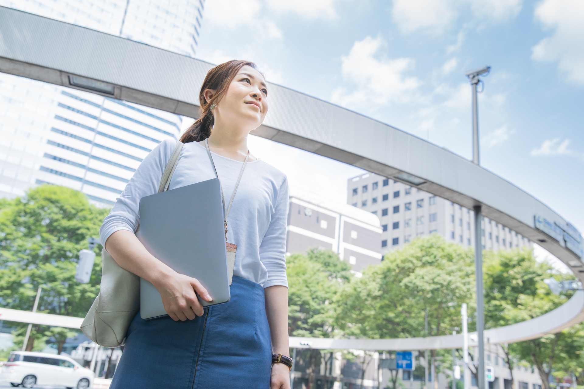
[[[158,190],[175,141],[145,157],[100,229],[103,246],[124,269],[154,285],[168,317],[134,318],[112,389],[290,388],[286,278],[286,176],[249,155],[247,137],[268,109],[265,79],[252,62],[211,69],[199,93],[201,116],[182,135],[185,143],[169,189],[215,178],[225,201],[241,182],[228,214],[227,238],[237,244],[231,300],[203,309],[197,279],[153,257],[134,236],[138,205]],[[210,153],[207,152],[206,142]],[[196,199],[193,199],[196,201]],[[183,206],[189,206],[184,204]],[[272,354],[281,362],[272,363]]]

